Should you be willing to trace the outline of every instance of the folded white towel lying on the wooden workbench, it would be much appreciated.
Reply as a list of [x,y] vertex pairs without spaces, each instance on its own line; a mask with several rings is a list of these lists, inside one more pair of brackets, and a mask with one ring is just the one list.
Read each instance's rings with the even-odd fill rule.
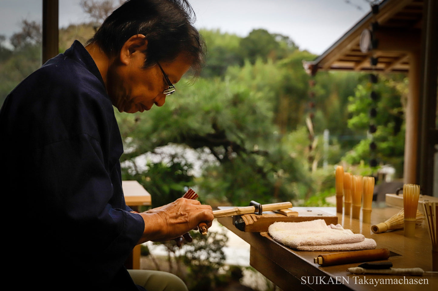
[[268,228],[277,242],[301,251],[356,251],[375,249],[374,239],[354,234],[340,224],[326,225],[323,219],[302,222],[275,222]]

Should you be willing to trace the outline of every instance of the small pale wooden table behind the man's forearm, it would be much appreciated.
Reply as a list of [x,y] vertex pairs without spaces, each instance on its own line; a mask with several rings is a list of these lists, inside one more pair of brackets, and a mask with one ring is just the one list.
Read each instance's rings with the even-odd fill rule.
[[[151,194],[137,181],[122,181],[125,203],[137,211],[141,205],[151,205]],[[140,269],[141,245],[136,245],[125,262],[127,269]]]

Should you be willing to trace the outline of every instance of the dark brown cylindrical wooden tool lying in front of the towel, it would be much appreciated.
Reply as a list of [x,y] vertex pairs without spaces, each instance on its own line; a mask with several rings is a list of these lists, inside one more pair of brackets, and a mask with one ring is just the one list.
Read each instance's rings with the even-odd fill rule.
[[353,252],[335,252],[319,255],[313,262],[321,266],[343,265],[349,263],[379,261],[389,258],[388,249],[365,249]]

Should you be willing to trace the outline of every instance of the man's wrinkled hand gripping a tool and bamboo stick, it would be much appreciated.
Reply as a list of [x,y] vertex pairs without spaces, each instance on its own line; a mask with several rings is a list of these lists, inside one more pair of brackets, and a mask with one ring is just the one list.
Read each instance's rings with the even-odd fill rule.
[[139,243],[175,239],[178,246],[182,245],[184,239],[192,241],[188,231],[197,229],[200,222],[205,222],[209,228],[214,218],[211,206],[186,198],[179,198],[140,215],[145,220],[145,231]]

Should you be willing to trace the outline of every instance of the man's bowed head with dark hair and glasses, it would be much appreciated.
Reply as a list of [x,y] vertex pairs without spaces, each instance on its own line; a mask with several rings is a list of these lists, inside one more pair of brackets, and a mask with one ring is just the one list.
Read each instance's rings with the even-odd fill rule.
[[87,44],[111,60],[106,87],[119,111],[161,106],[166,77],[176,83],[189,68],[199,75],[204,53],[193,22],[187,0],[128,0],[106,18]]

